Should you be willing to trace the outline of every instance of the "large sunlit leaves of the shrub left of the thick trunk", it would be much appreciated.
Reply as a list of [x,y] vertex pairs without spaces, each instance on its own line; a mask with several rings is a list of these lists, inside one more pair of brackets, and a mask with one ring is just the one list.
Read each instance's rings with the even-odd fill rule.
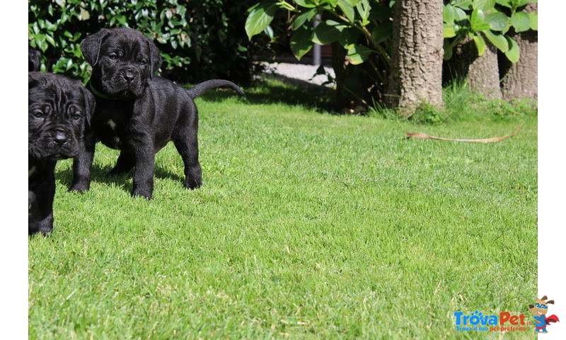
[[[347,50],[352,64],[361,64],[371,52],[378,52],[388,59],[381,42],[391,36],[391,14],[385,1],[369,0],[293,0],[262,1],[250,8],[246,20],[246,33],[253,37],[268,33],[277,10],[291,13],[291,50],[298,60],[313,46],[339,42]],[[316,15],[323,17],[322,20]],[[316,28],[312,22],[320,21]],[[361,41],[362,40],[362,41]]]

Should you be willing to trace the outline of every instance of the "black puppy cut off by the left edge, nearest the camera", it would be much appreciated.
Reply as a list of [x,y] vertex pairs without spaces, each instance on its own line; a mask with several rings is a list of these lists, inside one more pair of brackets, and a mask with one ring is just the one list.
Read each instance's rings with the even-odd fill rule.
[[94,106],[93,94],[79,81],[28,73],[28,234],[53,229],[55,163],[83,148]]

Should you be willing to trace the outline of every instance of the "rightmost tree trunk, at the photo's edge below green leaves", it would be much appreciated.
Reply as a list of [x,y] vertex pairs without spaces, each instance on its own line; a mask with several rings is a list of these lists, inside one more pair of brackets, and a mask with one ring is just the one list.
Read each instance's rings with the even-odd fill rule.
[[[531,3],[525,12],[536,12],[538,6]],[[512,63],[502,56],[500,72],[502,74],[502,93],[507,101],[519,98],[538,99],[538,33],[536,30],[514,33],[512,38],[521,49],[521,59]]]

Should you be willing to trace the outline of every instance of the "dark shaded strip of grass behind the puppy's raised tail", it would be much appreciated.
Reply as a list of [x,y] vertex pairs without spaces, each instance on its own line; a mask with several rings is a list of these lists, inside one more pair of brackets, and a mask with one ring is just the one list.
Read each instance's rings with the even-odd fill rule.
[[[190,88],[190,85],[185,87]],[[244,89],[250,104],[282,103],[291,106],[304,106],[319,112],[337,113],[334,106],[335,90],[318,86],[299,79],[283,76],[266,76],[258,79],[253,87]],[[223,101],[237,96],[231,89],[209,91],[202,95],[205,101]]]

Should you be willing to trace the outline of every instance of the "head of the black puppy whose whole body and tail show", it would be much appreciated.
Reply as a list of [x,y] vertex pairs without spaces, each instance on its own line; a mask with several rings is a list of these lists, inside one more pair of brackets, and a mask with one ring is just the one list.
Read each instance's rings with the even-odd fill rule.
[[154,42],[131,28],[103,28],[81,42],[81,51],[93,67],[91,85],[118,98],[141,96],[161,66]]

